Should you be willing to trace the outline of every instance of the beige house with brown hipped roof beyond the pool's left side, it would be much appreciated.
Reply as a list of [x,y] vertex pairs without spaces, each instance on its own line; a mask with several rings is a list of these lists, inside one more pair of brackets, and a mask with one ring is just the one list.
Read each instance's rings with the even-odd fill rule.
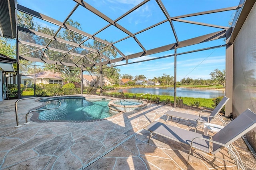
[[51,71],[42,71],[36,73],[36,84],[63,84],[63,79],[59,73],[53,73]]

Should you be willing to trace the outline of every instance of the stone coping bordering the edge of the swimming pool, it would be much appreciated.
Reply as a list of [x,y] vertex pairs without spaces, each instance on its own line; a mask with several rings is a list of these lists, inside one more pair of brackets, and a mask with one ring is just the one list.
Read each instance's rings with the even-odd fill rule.
[[[65,97],[65,98],[74,98],[74,97],[79,97],[79,98],[83,98],[83,99],[109,99],[110,101],[115,100],[111,97],[84,97],[83,95],[65,95],[65,96],[54,96],[54,97],[44,97],[45,99],[54,99],[54,98],[60,98],[60,97]],[[38,107],[34,107],[33,109],[30,109],[28,112],[39,109],[41,107],[44,107],[46,104],[44,102],[41,102],[40,100],[43,99],[37,99],[35,100],[38,103],[41,103],[40,106]],[[40,120],[38,119],[39,117],[39,113],[36,111],[31,112],[32,116],[30,117],[30,121],[32,122],[36,122],[36,123],[48,123],[48,122],[67,122],[67,123],[86,123],[86,122],[96,122],[96,121],[104,121],[104,120],[108,120],[108,119],[113,119],[115,117],[118,117],[120,115],[122,115],[124,112],[120,111],[119,113],[117,113],[116,115],[113,115],[111,117],[107,117],[107,118],[102,118],[102,119],[92,119],[92,120],[85,120],[85,121],[68,121],[68,120]]]

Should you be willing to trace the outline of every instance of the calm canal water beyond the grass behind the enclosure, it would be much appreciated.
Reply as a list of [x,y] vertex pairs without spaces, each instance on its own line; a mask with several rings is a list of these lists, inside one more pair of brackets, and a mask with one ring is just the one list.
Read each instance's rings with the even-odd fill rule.
[[[131,89],[118,89],[111,92],[119,93],[151,93],[152,95],[169,95],[174,96],[174,87],[143,87]],[[177,97],[194,97],[194,98],[216,98],[225,95],[224,90],[210,90],[210,89],[190,89],[190,88],[177,88]]]

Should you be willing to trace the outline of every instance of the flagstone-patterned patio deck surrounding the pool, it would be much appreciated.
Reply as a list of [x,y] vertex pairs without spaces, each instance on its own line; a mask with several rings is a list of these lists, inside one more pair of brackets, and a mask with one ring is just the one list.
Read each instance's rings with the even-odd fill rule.
[[[85,97],[89,95],[83,95]],[[91,97],[91,95],[90,95]],[[98,96],[95,96],[98,97]],[[20,125],[16,126],[14,103],[0,102],[0,169],[236,169],[236,165],[194,150],[189,164],[189,147],[143,127],[152,121],[166,123],[168,110],[196,114],[198,111],[174,109],[164,105],[148,105],[146,109],[123,113],[119,116],[87,123],[25,123],[28,110],[41,103],[35,99],[18,103]],[[32,114],[29,115],[31,117]],[[228,123],[230,120],[225,119]],[[214,123],[219,122],[214,120]],[[169,125],[194,131],[196,123],[172,119]],[[203,134],[203,131],[198,130]],[[256,169],[256,160],[244,140],[234,142],[246,169]],[[230,160],[225,149],[218,157]],[[232,160],[230,160],[232,161]]]

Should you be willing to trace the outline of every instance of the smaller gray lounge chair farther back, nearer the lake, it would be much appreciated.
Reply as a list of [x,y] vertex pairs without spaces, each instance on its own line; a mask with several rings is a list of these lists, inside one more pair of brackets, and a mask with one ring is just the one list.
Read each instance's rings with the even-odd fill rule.
[[[210,123],[213,118],[216,118],[218,116],[218,113],[224,107],[224,105],[228,102],[229,98],[224,96],[223,99],[220,101],[220,103],[215,107],[215,109],[212,111],[210,115],[201,115],[201,113],[206,112],[207,110],[203,110],[199,113],[199,115],[191,115],[188,113],[181,113],[181,112],[176,112],[176,111],[167,111],[164,113],[164,115],[167,115],[167,120],[168,122],[169,117],[178,117],[180,119],[187,119],[191,121],[197,121],[197,125],[199,123]],[[217,117],[218,119],[222,119],[222,117],[219,115]]]

